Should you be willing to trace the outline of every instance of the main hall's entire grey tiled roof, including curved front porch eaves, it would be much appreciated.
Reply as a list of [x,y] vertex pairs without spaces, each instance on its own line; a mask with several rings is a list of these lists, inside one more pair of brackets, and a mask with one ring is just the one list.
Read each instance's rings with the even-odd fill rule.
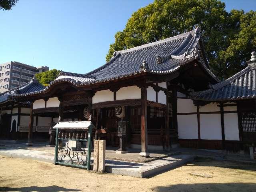
[[[60,76],[52,81],[45,90],[17,96],[39,94],[58,82],[70,82],[76,86],[82,86],[122,79],[145,72],[159,75],[169,74],[193,60],[199,60],[206,73],[218,82],[218,78],[208,69],[205,63],[207,61],[199,56],[199,54],[202,55],[199,45],[200,37],[200,29],[196,28],[178,36],[118,51],[108,63],[92,72],[84,75],[61,72]],[[144,68],[143,63],[145,64]]]

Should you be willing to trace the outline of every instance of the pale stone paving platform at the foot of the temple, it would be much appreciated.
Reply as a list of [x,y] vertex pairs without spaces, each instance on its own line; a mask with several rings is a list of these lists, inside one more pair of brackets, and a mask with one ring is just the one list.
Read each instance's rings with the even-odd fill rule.
[[[44,147],[42,144],[38,144],[37,147],[38,150],[36,150],[35,147],[36,144],[34,144],[34,147],[30,148],[23,148],[21,145],[18,145],[16,147],[12,146],[2,146],[0,148],[0,155],[13,157],[13,158],[28,158],[32,160],[38,160],[43,162],[54,162],[54,148],[50,147]],[[106,150],[106,156],[107,154],[116,154],[114,152],[115,150]],[[116,154],[116,155],[123,155],[123,154]],[[125,154],[128,158],[128,154]],[[106,172],[113,173],[113,174],[120,174],[120,175],[126,175],[126,176],[133,176],[133,177],[150,177],[154,176],[156,174],[159,174],[164,171],[171,170],[173,168],[176,168],[178,166],[182,166],[183,164],[186,164],[187,162],[194,159],[194,155],[190,154],[172,154],[171,156],[167,156],[166,154],[153,154],[154,157],[149,158],[150,161],[148,162],[139,162],[141,159],[136,158],[135,161],[124,161],[124,160],[117,160],[118,156],[114,156],[114,158],[110,159],[106,157]],[[138,152],[132,152],[130,153],[130,158],[137,157]],[[147,158],[148,159],[148,158]],[[92,160],[93,160],[93,154],[92,154]]]

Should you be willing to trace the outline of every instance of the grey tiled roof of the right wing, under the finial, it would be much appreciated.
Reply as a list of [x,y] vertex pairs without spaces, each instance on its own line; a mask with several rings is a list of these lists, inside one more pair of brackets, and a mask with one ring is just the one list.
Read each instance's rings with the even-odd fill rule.
[[195,92],[194,100],[222,101],[256,98],[256,64],[249,64],[244,70],[229,79],[212,85],[212,88]]

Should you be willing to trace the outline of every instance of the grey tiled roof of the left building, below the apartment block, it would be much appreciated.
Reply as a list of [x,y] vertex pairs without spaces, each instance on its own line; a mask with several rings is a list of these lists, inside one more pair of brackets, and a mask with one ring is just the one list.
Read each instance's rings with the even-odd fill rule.
[[6,92],[3,92],[0,94],[0,103],[4,103],[8,100],[11,100],[12,96],[19,95],[19,94],[28,94],[32,92],[37,92],[40,90],[44,90],[45,86],[40,84],[36,79],[32,79],[30,82],[23,84],[21,86],[18,86],[14,89],[8,90]]

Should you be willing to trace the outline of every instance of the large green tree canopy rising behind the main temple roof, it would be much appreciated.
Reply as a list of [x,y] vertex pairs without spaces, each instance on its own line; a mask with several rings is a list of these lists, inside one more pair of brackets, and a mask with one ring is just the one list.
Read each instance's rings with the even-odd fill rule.
[[162,40],[199,26],[211,70],[228,78],[246,66],[256,46],[256,12],[225,10],[218,0],[155,0],[128,19],[115,34],[106,61],[114,50],[124,50]]

